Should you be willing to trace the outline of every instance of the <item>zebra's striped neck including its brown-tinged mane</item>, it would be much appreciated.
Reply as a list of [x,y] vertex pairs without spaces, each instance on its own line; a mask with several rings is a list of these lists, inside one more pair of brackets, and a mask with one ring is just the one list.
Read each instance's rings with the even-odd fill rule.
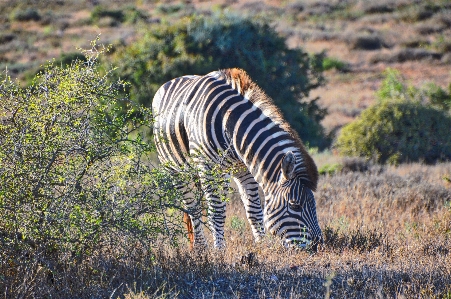
[[213,72],[209,76],[219,81],[225,79],[226,86],[235,91],[227,97],[218,94],[214,98],[218,102],[214,99],[209,102],[215,107],[207,109],[214,110],[213,144],[219,149],[224,145],[232,147],[235,158],[247,166],[265,193],[279,183],[280,163],[291,151],[296,157],[296,177],[315,190],[318,180],[315,163],[272,100],[242,70]]

